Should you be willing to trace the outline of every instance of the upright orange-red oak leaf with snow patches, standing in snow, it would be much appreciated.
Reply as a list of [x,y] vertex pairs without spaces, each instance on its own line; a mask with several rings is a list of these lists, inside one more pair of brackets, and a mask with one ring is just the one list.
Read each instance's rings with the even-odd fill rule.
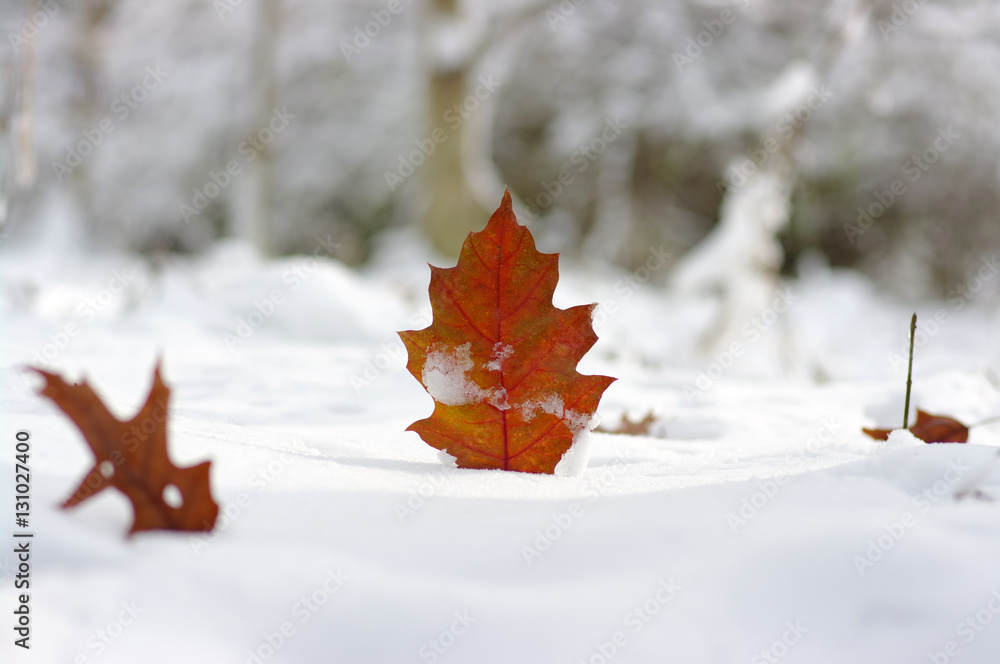
[[597,305],[552,306],[558,265],[559,254],[535,249],[504,191],[458,265],[431,266],[433,323],[399,335],[434,413],[407,431],[460,468],[555,472],[615,380],[576,370],[597,342]]

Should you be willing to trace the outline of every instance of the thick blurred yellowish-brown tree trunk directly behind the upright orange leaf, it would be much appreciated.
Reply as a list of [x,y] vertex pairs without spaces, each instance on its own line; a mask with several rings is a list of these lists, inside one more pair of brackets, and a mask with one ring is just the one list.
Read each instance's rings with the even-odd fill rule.
[[[440,22],[460,19],[458,0],[433,0],[431,14],[429,39],[435,40]],[[438,144],[434,153],[427,158],[426,190],[429,200],[422,226],[435,249],[446,256],[458,256],[466,235],[475,228],[483,227],[487,214],[466,177],[467,141],[473,140],[466,128],[468,123],[463,122],[457,129],[452,129],[444,121],[445,113],[456,105],[461,107],[468,95],[466,79],[473,62],[441,62],[436,47],[436,43],[429,45],[432,62],[428,91],[428,131],[441,127],[447,140]]]

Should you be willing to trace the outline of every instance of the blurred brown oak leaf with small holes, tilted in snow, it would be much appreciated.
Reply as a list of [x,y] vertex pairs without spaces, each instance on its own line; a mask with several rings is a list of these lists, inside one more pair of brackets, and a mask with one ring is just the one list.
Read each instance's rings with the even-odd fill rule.
[[[211,462],[178,468],[170,461],[167,452],[170,388],[160,378],[159,363],[145,405],[128,422],[115,418],[86,380],[70,384],[56,374],[32,370],[45,379],[39,394],[66,413],[94,453],[93,469],[63,503],[64,509],[111,486],[132,502],[135,518],[129,535],[142,530],[212,530],[219,506],[209,486]],[[164,492],[171,486],[180,492],[180,505],[173,506],[164,500]]]

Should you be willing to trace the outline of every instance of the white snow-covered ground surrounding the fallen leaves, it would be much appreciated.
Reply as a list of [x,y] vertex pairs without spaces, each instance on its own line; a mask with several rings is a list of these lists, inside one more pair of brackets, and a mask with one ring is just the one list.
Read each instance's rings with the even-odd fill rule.
[[[605,426],[652,410],[655,435],[592,434],[574,477],[458,470],[404,432],[432,408],[394,335],[429,322],[411,246],[362,273],[321,241],[156,267],[0,251],[4,662],[998,661],[1000,424],[967,445],[860,431],[899,424],[908,309],[814,265],[704,351],[711,299],[564,261],[557,306],[602,303],[581,371],[619,378]],[[967,423],[1000,414],[990,260],[919,309],[915,405]],[[224,515],[125,540],[117,493],[55,508],[91,458],[22,367],[86,374],[130,417],[161,355],[172,455],[213,461]],[[12,643],[19,430],[30,653]],[[970,488],[995,500],[953,497]]]

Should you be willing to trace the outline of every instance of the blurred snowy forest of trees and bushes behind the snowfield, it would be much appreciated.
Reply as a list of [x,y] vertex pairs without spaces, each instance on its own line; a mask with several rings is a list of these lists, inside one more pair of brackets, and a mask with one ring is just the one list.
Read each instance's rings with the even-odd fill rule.
[[945,296],[1000,244],[992,2],[31,0],[0,20],[9,242],[281,255],[329,234],[357,265],[389,229],[455,253],[507,184],[544,249],[635,267],[776,177],[784,208],[747,231],[780,243],[765,270],[819,256]]

